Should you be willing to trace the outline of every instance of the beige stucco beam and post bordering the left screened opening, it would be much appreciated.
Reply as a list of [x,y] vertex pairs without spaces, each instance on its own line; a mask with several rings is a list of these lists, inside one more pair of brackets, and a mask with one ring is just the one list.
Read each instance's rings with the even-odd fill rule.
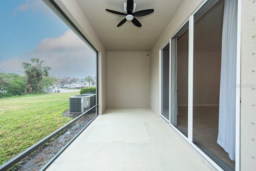
[[[50,8],[54,10],[53,7],[51,7],[48,0],[44,0],[44,2],[50,6]],[[107,109],[107,88],[106,88],[106,81],[107,81],[107,75],[106,75],[106,50],[102,43],[100,42],[100,39],[98,38],[97,34],[94,32],[94,29],[88,22],[86,16],[82,12],[80,6],[77,4],[74,0],[55,0],[55,2],[60,6],[60,8],[64,11],[64,13],[68,16],[68,18],[76,25],[76,27],[82,32],[82,34],[87,38],[87,40],[96,48],[96,50],[99,52],[99,68],[98,68],[98,112],[99,114],[104,113],[104,111]],[[62,20],[63,17],[59,15]],[[66,22],[64,20],[64,22]],[[69,23],[66,22],[68,26],[70,26]],[[76,30],[71,28],[75,33]],[[80,35],[78,35],[80,37]]]

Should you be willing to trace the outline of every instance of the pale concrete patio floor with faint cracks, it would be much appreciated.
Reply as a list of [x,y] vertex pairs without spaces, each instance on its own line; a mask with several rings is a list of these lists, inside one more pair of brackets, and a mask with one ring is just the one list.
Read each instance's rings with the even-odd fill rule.
[[210,170],[150,109],[108,109],[47,171]]

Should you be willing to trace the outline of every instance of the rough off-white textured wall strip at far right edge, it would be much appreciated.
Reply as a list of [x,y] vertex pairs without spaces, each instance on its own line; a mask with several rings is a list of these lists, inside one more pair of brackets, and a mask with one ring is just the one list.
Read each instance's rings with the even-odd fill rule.
[[242,0],[241,170],[256,169],[256,2]]

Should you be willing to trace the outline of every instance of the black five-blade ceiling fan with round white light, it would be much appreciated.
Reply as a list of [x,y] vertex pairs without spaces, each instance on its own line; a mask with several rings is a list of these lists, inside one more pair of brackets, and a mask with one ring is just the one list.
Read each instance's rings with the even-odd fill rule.
[[135,17],[142,17],[142,16],[146,16],[148,14],[151,14],[152,12],[154,12],[154,9],[148,9],[148,10],[141,10],[141,11],[137,11],[137,12],[133,12],[133,0],[127,0],[127,6],[126,6],[126,10],[127,10],[127,14],[122,13],[122,12],[118,12],[118,11],[114,11],[114,10],[109,10],[106,9],[106,11],[111,12],[113,14],[118,14],[118,15],[122,15],[122,16],[126,16],[118,25],[117,27],[122,26],[127,20],[132,21],[132,23],[137,26],[137,27],[141,27],[142,25],[140,24],[140,22],[135,18]]

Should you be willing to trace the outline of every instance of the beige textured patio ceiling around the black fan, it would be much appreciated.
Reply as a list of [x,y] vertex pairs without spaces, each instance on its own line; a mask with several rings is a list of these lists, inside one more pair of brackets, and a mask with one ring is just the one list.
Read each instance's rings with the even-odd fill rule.
[[141,28],[130,21],[118,28],[117,24],[125,16],[106,12],[106,8],[124,12],[126,0],[77,2],[107,51],[150,51],[183,0],[134,0],[136,11],[154,9],[154,13],[148,16],[136,17],[142,24]]

